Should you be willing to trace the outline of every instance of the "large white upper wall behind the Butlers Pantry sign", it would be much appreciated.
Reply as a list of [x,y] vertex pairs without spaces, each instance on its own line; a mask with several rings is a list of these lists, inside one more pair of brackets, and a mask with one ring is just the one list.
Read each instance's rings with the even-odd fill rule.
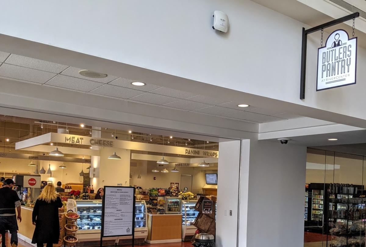
[[[319,33],[308,39],[306,99],[299,99],[304,24],[262,5],[249,0],[86,3],[89,2],[38,0],[25,1],[19,6],[7,1],[2,4],[0,22],[4,25],[0,26],[0,33],[253,95],[366,118],[361,107],[366,101],[362,95],[365,84],[315,92],[314,62]],[[212,30],[214,10],[228,14],[228,33]],[[80,26],[88,28],[80,30]],[[57,32],[50,32],[50,27]],[[95,35],[95,30],[103,30],[105,35]],[[217,48],[224,50],[215,52]],[[358,68],[365,67],[365,58],[365,49],[359,48]],[[98,64],[95,66],[96,69]],[[365,70],[357,72],[358,78],[365,77]],[[159,83],[153,77],[150,80]],[[191,86],[193,82],[169,83],[176,89],[197,90]],[[254,100],[247,96],[249,101]],[[273,102],[261,104],[270,108]],[[287,107],[291,110],[290,104]],[[302,110],[304,115],[315,113],[311,109]]]

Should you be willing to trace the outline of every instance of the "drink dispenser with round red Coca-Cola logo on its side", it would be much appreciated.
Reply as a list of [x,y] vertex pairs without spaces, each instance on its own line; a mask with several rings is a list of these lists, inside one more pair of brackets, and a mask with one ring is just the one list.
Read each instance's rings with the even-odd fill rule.
[[19,198],[26,204],[35,202],[41,194],[41,175],[19,175],[13,176],[13,181],[18,188]]

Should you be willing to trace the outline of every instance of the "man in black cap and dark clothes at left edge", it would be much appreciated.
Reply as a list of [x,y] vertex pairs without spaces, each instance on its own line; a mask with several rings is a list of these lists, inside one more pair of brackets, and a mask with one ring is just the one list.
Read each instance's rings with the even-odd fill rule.
[[[18,246],[18,222],[16,219],[18,218],[19,222],[22,222],[22,216],[20,216],[18,194],[11,189],[13,185],[13,180],[8,178],[0,189],[0,232],[9,230],[11,247],[16,247]],[[18,211],[18,217],[16,217],[15,208]]]

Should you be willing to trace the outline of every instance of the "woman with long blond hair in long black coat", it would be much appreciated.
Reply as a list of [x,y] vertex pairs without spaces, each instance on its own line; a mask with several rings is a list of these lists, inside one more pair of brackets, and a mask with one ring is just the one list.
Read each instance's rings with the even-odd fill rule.
[[59,208],[62,202],[55,193],[53,184],[46,185],[33,208],[32,221],[36,225],[34,229],[32,244],[37,247],[52,247],[59,242],[60,222]]

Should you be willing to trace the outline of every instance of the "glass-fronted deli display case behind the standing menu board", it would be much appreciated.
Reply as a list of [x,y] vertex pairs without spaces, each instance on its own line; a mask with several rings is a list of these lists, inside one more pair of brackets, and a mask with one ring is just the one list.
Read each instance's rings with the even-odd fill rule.
[[[79,242],[100,240],[102,226],[102,200],[75,200],[68,199],[67,211],[80,215],[76,221],[79,230],[76,232]],[[146,203],[137,200],[135,203],[135,244],[144,243],[147,238]],[[109,238],[104,238],[109,239]],[[112,237],[117,244],[131,244],[132,237]],[[89,245],[88,245],[89,246]]]

